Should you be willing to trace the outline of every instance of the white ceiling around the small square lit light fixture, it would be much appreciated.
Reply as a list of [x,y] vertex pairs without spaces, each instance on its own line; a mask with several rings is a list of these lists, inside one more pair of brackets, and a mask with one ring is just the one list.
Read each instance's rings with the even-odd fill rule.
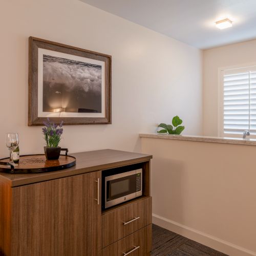
[[[256,0],[81,0],[200,49],[256,38]],[[217,20],[233,27],[219,30]]]

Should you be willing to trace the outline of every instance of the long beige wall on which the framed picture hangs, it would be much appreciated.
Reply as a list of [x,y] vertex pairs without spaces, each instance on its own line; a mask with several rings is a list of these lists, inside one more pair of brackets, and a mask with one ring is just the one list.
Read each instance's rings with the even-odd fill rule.
[[65,126],[70,152],[139,151],[140,132],[177,114],[189,134],[201,134],[200,50],[78,0],[2,1],[1,10],[0,157],[7,132],[19,132],[22,154],[44,145],[41,127],[27,126],[29,36],[113,57],[113,124]]

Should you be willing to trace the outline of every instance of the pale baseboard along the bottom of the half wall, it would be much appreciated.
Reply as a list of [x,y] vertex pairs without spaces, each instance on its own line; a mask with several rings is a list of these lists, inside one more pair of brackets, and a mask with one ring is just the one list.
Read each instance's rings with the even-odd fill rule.
[[215,250],[221,251],[231,256],[256,256],[256,252],[229,243],[222,239],[210,236],[209,234],[201,232],[197,229],[190,228],[188,226],[163,218],[156,214],[152,214],[152,216],[154,224],[178,233],[181,236],[194,240],[198,243],[211,247]]

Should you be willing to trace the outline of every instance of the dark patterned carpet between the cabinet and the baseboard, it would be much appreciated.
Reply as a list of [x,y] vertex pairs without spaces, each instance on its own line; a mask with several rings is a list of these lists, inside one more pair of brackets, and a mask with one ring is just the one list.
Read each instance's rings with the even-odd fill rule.
[[227,256],[226,254],[182,237],[153,224],[153,246],[151,255],[177,256]]

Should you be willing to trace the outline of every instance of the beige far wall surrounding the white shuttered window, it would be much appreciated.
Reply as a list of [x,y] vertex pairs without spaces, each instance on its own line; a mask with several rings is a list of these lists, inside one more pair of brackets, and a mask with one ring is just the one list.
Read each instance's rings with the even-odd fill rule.
[[218,136],[218,68],[256,63],[256,40],[203,51],[203,134]]

